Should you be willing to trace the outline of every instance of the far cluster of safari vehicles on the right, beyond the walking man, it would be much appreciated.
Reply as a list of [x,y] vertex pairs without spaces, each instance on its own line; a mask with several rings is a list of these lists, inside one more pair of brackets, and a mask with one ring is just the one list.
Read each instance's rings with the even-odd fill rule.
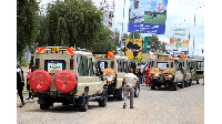
[[176,91],[178,86],[180,89],[191,86],[193,80],[199,84],[199,79],[203,79],[203,61],[183,54],[157,55],[151,66],[149,74],[151,90],[164,85]]

